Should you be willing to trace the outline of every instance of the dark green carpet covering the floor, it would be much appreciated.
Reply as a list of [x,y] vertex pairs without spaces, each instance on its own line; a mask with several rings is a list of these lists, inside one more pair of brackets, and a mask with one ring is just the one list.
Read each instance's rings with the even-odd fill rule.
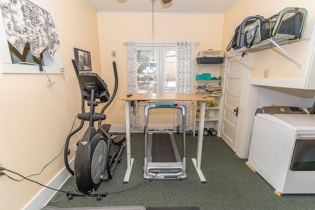
[[[182,135],[174,135],[182,148]],[[201,183],[191,158],[196,157],[197,137],[186,136],[187,178],[184,180],[144,180],[144,134],[133,133],[131,157],[135,158],[129,183],[126,173],[126,150],[113,179],[103,181],[97,191],[108,192],[95,197],[74,197],[68,201],[59,193],[47,205],[58,208],[143,206],[145,208],[199,207],[200,210],[315,210],[314,194],[274,194],[274,189],[252,172],[221,138],[206,136],[203,141],[201,170],[207,183]],[[71,177],[62,190],[75,186]],[[57,202],[54,202],[57,201]]]

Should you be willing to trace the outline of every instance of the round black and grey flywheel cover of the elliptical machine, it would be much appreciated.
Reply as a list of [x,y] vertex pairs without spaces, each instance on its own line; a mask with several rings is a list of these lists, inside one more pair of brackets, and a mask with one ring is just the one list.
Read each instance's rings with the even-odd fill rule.
[[78,145],[74,159],[74,176],[80,192],[97,190],[106,171],[109,156],[107,147],[106,139],[97,133],[89,143],[80,142]]

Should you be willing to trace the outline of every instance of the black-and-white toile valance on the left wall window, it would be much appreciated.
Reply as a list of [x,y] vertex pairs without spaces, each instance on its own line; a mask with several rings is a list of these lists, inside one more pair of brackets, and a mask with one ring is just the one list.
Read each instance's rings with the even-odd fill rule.
[[29,42],[38,60],[45,49],[54,59],[59,38],[49,12],[29,0],[0,0],[0,6],[7,40],[21,55]]

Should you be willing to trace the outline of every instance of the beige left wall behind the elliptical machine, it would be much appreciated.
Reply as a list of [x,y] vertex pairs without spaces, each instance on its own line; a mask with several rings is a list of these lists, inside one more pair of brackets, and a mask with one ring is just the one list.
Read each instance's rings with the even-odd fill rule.
[[[57,83],[48,86],[47,77],[43,74],[0,73],[0,162],[3,167],[23,176],[39,173],[58,156],[71,129],[72,118],[81,111],[80,90],[71,63],[73,48],[90,51],[93,71],[101,73],[95,11],[84,0],[44,1],[55,9],[55,24],[68,83],[61,77]],[[57,77],[49,76],[52,80]],[[71,150],[77,140],[78,137],[74,136]],[[69,159],[73,155],[72,151]],[[30,179],[48,184],[63,168],[62,153],[40,175]],[[5,173],[22,179],[7,171]],[[43,187],[28,180],[18,182],[1,176],[0,209],[24,209],[42,190]]]

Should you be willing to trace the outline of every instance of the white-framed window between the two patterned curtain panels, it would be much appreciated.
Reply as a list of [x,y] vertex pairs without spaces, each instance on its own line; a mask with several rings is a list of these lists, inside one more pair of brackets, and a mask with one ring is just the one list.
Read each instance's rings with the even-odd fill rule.
[[176,46],[137,44],[139,93],[175,93]]

